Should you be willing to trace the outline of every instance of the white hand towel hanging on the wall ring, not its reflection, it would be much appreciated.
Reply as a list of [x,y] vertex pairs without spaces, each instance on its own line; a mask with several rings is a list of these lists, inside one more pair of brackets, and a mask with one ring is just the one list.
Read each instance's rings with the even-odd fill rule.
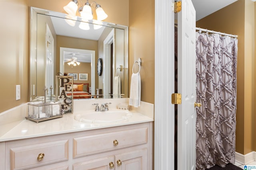
[[140,73],[132,73],[129,105],[140,106]]

